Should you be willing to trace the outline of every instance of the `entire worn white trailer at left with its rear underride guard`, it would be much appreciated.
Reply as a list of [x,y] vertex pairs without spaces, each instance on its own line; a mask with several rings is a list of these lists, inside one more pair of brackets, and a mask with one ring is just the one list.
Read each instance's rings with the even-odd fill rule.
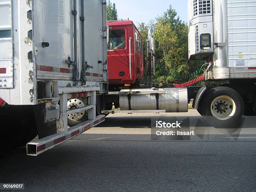
[[37,155],[105,120],[106,0],[0,0],[0,18],[1,147],[38,134]]

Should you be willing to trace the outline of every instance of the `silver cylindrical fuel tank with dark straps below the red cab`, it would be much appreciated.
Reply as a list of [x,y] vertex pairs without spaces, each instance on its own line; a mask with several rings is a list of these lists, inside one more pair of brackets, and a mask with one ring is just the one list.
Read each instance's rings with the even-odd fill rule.
[[166,110],[166,113],[187,112],[187,88],[121,90],[120,110]]

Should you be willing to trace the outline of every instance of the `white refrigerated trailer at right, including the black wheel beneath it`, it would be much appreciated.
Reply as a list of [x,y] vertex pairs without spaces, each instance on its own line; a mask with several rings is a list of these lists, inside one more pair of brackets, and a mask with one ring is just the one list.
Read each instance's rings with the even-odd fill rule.
[[256,115],[256,1],[188,0],[189,59],[212,62],[193,107],[219,127]]

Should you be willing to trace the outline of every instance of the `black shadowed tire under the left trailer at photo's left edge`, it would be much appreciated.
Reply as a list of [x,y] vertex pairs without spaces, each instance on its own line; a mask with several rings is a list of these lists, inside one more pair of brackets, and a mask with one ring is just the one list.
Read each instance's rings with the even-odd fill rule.
[[[5,149],[26,144],[37,136],[32,106],[8,106],[0,108],[0,114],[0,146],[4,146]],[[14,115],[15,120],[10,120]]]

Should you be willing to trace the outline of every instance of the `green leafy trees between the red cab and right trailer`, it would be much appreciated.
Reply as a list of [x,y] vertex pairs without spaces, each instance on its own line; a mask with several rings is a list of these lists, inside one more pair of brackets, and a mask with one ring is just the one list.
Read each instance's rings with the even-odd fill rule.
[[188,59],[188,27],[179,19],[170,5],[166,12],[156,18],[156,81],[184,82],[197,76],[201,63]]

